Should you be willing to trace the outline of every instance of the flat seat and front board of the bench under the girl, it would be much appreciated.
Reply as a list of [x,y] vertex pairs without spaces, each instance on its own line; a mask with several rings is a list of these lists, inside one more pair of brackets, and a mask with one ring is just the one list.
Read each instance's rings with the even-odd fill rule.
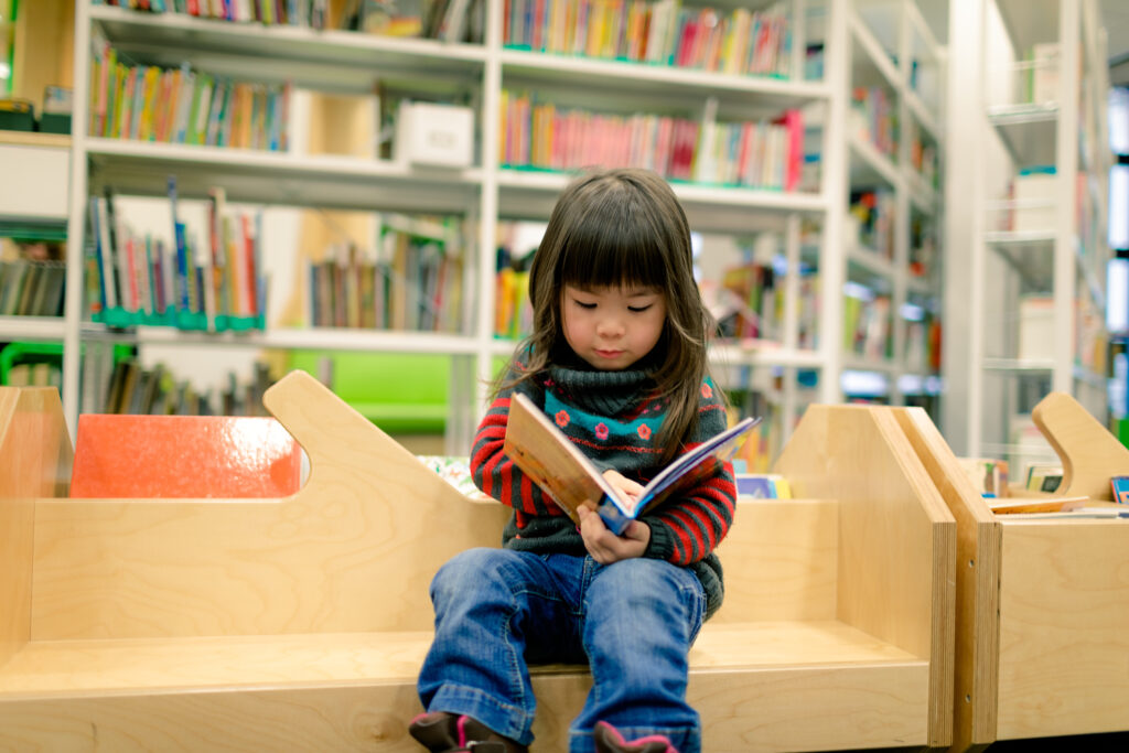
[[[428,639],[32,645],[0,673],[0,747],[414,751],[405,724],[420,710],[414,682]],[[689,697],[711,753],[925,739],[926,663],[849,625],[709,624],[691,663]],[[589,685],[575,667],[534,671],[537,750],[566,750]]]

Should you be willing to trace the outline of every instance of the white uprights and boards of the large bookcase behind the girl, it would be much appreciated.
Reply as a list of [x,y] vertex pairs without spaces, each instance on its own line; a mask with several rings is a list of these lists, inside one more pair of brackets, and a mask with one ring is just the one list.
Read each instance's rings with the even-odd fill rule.
[[[472,3],[473,5],[473,3]],[[664,3],[659,3],[664,5]],[[671,3],[665,3],[671,5]],[[709,3],[685,3],[700,9]],[[84,238],[87,201],[107,189],[121,195],[160,196],[169,174],[176,175],[178,194],[187,201],[222,186],[233,203],[279,204],[326,210],[426,212],[462,218],[474,229],[467,236],[469,290],[473,307],[456,332],[419,333],[344,330],[335,327],[277,327],[263,332],[208,334],[161,327],[111,331],[88,321],[82,303],[82,244],[72,244],[68,268],[63,403],[73,422],[80,410],[79,344],[112,341],[165,347],[248,349],[323,348],[339,350],[438,353],[452,357],[460,371],[453,379],[461,389],[452,396],[454,427],[473,428],[484,387],[498,357],[513,350],[513,341],[493,336],[497,221],[548,219],[557,194],[567,184],[567,170],[531,169],[504,164],[501,133],[504,93],[536,91],[558,110],[584,110],[609,116],[644,113],[682,117],[694,123],[756,123],[793,110],[804,114],[805,150],[819,155],[817,175],[794,190],[726,185],[717,181],[672,180],[691,226],[707,234],[743,236],[770,234],[787,269],[803,264],[817,269],[820,300],[816,330],[822,336],[802,342],[799,322],[805,312],[797,303],[799,274],[780,281],[780,334],[772,341],[719,343],[712,357],[721,371],[753,370],[776,375],[777,397],[786,414],[798,415],[811,400],[835,403],[843,397],[840,375],[846,365],[841,342],[829,333],[842,329],[839,290],[847,280],[840,238],[848,211],[848,175],[864,164],[866,145],[851,148],[847,133],[849,76],[837,61],[848,62],[847,49],[858,34],[859,9],[850,0],[787,0],[782,3],[714,3],[721,14],[739,6],[767,11],[779,8],[789,17],[793,44],[778,61],[786,73],[746,76],[686,67],[629,62],[542,52],[504,41],[507,9],[504,0],[484,0],[481,44],[429,38],[394,38],[353,32],[298,26],[239,24],[183,14],[142,14],[124,8],[79,2],[76,49],[88,50],[91,34],[102,35],[134,62],[165,68],[187,63],[193,70],[231,76],[261,84],[291,82],[295,88],[332,93],[369,93],[375,84],[390,88],[454,95],[474,111],[476,145],[469,167],[412,166],[394,158],[358,159],[342,155],[231,149],[215,146],[141,142],[91,137],[76,131],[71,148],[73,180],[69,201],[69,233]],[[856,7],[858,6],[858,7]],[[912,0],[899,0],[892,11],[899,27],[917,29],[933,43],[930,54],[943,51],[931,40]],[[909,20],[907,20],[909,19]],[[924,29],[924,30],[922,30]],[[852,37],[854,35],[854,37]],[[909,35],[907,36],[909,38]],[[857,44],[857,43],[856,43]],[[907,42],[907,45],[909,43]],[[825,73],[812,75],[809,51],[822,50]],[[76,122],[89,116],[89,55],[76,55]],[[919,120],[939,142],[935,103],[914,98],[907,71],[893,67],[898,90],[905,94],[898,106],[928,113]],[[934,107],[930,110],[930,107]],[[908,147],[907,147],[908,149]],[[848,157],[850,152],[850,157]],[[890,167],[878,161],[878,170]],[[909,165],[908,159],[899,160]],[[922,207],[934,211],[931,186],[913,182],[908,168],[891,167],[900,201],[911,203],[911,189]],[[854,177],[851,178],[854,181]],[[812,226],[814,231],[805,228]],[[901,299],[910,291],[933,295],[931,284],[908,272],[908,224],[901,230],[898,256],[882,266]],[[489,249],[489,251],[484,251]],[[865,262],[864,262],[865,263]],[[895,345],[895,367],[879,364],[895,375],[905,371],[903,345]],[[873,362],[859,362],[874,367]],[[817,384],[800,384],[800,375],[816,371]],[[779,379],[782,374],[784,378]],[[891,395],[894,402],[902,400]],[[461,414],[461,415],[460,415]],[[784,421],[786,440],[791,421]],[[455,437],[461,447],[466,437]]]

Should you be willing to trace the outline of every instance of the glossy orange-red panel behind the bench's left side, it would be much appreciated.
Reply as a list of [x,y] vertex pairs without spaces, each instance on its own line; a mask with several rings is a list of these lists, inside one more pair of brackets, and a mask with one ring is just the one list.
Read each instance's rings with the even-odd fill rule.
[[301,449],[273,418],[78,419],[75,498],[289,497],[300,483]]

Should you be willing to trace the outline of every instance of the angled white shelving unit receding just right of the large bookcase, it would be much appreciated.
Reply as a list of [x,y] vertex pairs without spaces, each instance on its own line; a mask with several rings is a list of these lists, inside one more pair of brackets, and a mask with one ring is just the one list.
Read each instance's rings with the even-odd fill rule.
[[[892,196],[893,227],[890,247],[883,253],[852,231],[844,234],[848,283],[860,286],[887,301],[891,343],[883,357],[850,352],[843,366],[848,378],[844,392],[852,396],[877,397],[892,404],[935,406],[940,393],[937,370],[924,362],[928,336],[925,324],[911,319],[942,317],[940,227],[943,222],[937,176],[944,159],[946,134],[945,82],[947,51],[935,36],[914,0],[856,0],[849,23],[847,45],[849,86],[884,93],[893,119],[894,134],[886,150],[876,145],[874,123],[858,113],[846,130],[849,160],[848,192],[877,190]],[[916,142],[916,143],[914,143]],[[933,158],[918,158],[926,147]],[[918,161],[922,164],[919,166]],[[925,169],[925,174],[922,173]],[[920,244],[912,231],[913,220],[925,227],[924,237],[934,246],[925,269],[912,269]],[[911,338],[918,338],[910,345]],[[852,384],[860,384],[852,388]],[[868,393],[873,389],[873,393]]]

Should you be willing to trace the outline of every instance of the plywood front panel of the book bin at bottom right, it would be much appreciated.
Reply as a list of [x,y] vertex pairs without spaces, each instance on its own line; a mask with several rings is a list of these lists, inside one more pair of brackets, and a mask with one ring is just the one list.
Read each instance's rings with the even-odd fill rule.
[[1129,522],[1003,523],[1000,738],[1129,729]]

